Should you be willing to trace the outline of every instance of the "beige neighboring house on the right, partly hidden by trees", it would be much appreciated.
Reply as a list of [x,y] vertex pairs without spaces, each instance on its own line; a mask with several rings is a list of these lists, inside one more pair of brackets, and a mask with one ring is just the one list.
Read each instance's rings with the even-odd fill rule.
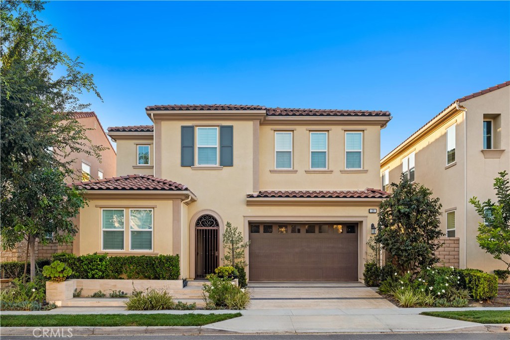
[[468,200],[495,200],[494,178],[510,168],[510,82],[459,98],[386,155],[380,164],[382,188],[400,174],[432,190],[443,205],[441,226],[458,239],[460,268],[506,269],[478,246],[482,222]]

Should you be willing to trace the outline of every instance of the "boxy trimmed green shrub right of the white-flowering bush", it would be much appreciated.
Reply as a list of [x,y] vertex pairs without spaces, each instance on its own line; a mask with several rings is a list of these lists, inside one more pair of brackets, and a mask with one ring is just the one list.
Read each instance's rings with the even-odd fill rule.
[[498,278],[496,275],[478,270],[462,270],[463,281],[474,300],[489,300],[498,295]]

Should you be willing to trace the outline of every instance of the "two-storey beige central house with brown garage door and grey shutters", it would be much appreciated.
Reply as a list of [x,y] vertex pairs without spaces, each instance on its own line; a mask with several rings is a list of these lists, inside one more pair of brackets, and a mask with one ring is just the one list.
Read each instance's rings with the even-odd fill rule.
[[[146,108],[153,126],[109,128],[119,177],[79,183],[77,254],[179,254],[183,278],[219,266],[231,222],[248,278],[358,281],[386,192],[384,111],[236,105]],[[376,188],[376,189],[371,189]]]

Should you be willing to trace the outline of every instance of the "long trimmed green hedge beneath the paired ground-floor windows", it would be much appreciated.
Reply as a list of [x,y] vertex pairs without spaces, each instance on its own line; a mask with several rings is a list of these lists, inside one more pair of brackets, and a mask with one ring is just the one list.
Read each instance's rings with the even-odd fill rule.
[[76,256],[57,253],[53,260],[65,263],[80,279],[148,279],[177,280],[181,274],[179,255],[108,256],[87,254]]

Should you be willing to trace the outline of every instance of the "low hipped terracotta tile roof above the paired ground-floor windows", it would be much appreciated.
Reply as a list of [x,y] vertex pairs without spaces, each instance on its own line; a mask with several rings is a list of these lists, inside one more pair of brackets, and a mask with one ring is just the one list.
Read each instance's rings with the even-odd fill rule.
[[77,186],[87,191],[94,190],[129,190],[129,191],[190,191],[185,185],[157,178],[152,175],[127,175],[120,177],[95,179],[76,182],[69,186]]

